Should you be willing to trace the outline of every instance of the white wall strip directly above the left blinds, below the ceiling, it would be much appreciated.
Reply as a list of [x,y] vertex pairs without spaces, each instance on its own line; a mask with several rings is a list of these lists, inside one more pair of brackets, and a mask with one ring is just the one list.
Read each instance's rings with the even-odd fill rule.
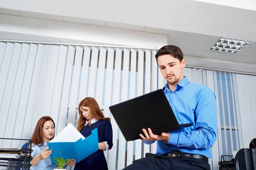
[[0,39],[161,48],[167,35],[0,14]]

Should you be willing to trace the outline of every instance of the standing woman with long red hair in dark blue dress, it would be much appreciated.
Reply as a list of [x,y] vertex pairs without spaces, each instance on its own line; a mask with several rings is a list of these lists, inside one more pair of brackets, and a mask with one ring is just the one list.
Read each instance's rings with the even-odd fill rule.
[[86,138],[91,131],[98,129],[99,150],[87,158],[76,162],[74,170],[108,170],[104,150],[113,146],[113,132],[110,118],[104,117],[98,103],[92,97],[83,99],[78,106],[79,120],[77,130]]

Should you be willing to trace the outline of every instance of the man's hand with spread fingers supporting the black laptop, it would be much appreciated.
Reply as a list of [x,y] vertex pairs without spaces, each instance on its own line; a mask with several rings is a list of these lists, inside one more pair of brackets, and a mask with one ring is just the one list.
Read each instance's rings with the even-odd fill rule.
[[169,138],[170,138],[170,132],[168,132],[168,133],[163,132],[161,135],[155,135],[152,133],[152,130],[150,128],[148,128],[148,132],[147,132],[147,130],[143,129],[143,132],[144,132],[145,136],[143,136],[143,134],[140,134],[141,140],[165,141],[165,140],[169,140]]

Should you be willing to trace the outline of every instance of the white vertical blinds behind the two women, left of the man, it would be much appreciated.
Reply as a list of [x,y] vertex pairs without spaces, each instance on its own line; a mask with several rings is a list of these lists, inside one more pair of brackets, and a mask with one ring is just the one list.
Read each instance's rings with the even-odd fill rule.
[[[147,49],[0,42],[0,137],[29,139],[41,116],[52,117],[55,134],[68,123],[76,126],[77,105],[90,96],[111,117],[113,147],[105,152],[109,169],[155,153],[156,144],[126,142],[108,109],[157,90],[153,54]],[[0,147],[21,145],[0,141]]]

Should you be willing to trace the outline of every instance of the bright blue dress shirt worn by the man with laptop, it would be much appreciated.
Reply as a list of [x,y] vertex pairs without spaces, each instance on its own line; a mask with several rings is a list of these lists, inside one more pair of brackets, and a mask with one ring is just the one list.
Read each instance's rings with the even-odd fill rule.
[[[156,154],[166,154],[172,150],[183,153],[212,156],[210,147],[216,141],[217,108],[212,90],[204,85],[189,82],[184,77],[174,91],[163,87],[163,91],[172,107],[179,124],[194,123],[191,127],[170,132],[169,142],[157,141]],[[158,119],[164,119],[160,117]],[[155,141],[143,141],[152,144]]]

